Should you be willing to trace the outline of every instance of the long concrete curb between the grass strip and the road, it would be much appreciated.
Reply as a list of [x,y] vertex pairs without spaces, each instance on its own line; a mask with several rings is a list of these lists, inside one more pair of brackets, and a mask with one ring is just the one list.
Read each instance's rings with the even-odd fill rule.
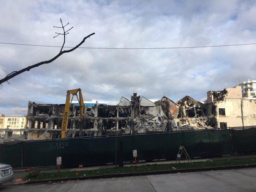
[[[225,169],[237,169],[237,168],[255,168],[255,167],[256,167],[256,164],[246,164],[246,165],[231,165],[231,166],[221,166],[221,167],[171,169],[171,170],[135,172],[135,173],[115,173],[115,174],[93,175],[93,176],[71,177],[71,178],[60,178],[60,179],[58,178],[58,179],[48,179],[48,180],[28,180],[27,182],[20,183],[20,184],[47,183],[47,182],[58,182],[58,181],[66,181],[66,180],[105,179],[105,178],[132,177],[132,176],[143,176],[143,175],[157,175],[157,174],[181,173],[181,172],[210,171],[210,170],[225,170]],[[17,184],[14,184],[14,185],[17,185]]]

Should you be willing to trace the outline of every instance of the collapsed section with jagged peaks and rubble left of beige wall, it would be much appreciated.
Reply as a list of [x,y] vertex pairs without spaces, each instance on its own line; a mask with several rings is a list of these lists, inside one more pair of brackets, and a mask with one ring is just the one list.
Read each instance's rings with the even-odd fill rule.
[[[156,101],[160,113],[139,115],[134,119],[134,132],[161,132],[212,129],[214,122],[204,114],[204,104],[185,96],[177,103],[166,96]],[[159,108],[159,107],[158,107]],[[144,110],[145,111],[145,110]],[[160,115],[161,114],[161,115]]]

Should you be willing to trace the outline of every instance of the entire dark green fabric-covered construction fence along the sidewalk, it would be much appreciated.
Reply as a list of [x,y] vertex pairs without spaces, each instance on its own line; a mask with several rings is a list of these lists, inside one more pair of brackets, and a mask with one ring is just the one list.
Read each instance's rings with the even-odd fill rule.
[[256,153],[255,137],[253,128],[10,142],[0,144],[0,163],[12,167],[54,166],[56,157],[61,156],[62,166],[106,164],[118,162],[120,154],[123,161],[133,161],[134,149],[138,160],[175,159],[180,145],[192,158]]

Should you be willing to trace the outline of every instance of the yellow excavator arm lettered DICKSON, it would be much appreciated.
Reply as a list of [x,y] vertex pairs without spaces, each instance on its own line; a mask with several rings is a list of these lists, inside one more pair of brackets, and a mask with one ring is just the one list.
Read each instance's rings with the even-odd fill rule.
[[[79,98],[77,96],[78,92],[79,92]],[[71,101],[70,101],[70,94],[72,94]],[[68,120],[69,120],[69,113],[70,113],[69,108],[70,108],[70,104],[73,100],[73,96],[77,97],[77,100],[78,100],[79,105],[80,105],[80,118],[82,118],[83,115],[84,115],[85,104],[84,104],[84,99],[83,99],[83,96],[82,96],[81,89],[78,88],[78,89],[68,90],[67,91],[65,108],[64,108],[64,113],[63,113],[63,118],[62,118],[62,123],[61,123],[61,138],[65,138],[66,132],[68,130]]]

